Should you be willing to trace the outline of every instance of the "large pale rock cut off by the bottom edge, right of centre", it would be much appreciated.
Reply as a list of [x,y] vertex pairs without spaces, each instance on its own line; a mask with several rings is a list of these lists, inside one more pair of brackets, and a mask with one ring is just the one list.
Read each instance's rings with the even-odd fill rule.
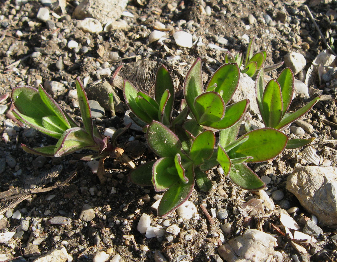
[[274,250],[276,238],[257,229],[247,229],[243,235],[219,247],[220,256],[227,262],[282,261],[282,254]]

